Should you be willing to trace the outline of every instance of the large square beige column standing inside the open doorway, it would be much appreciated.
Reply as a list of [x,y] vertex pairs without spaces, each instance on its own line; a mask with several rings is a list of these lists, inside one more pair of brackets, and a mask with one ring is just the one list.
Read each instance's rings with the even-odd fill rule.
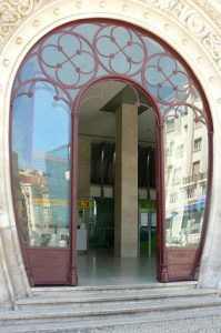
[[115,228],[117,256],[138,256],[138,107],[115,110]]

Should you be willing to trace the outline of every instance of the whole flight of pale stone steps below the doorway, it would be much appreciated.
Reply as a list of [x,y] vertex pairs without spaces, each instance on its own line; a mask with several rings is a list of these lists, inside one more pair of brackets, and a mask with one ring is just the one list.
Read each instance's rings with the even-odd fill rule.
[[[211,319],[217,315],[221,323],[221,297],[218,290],[195,286],[195,283],[175,283],[170,286],[161,284],[161,287],[39,287],[34,289],[33,296],[18,300],[14,304],[17,310],[0,311],[0,333],[98,333],[96,330],[102,333],[106,330],[132,333],[128,330],[133,325],[135,330],[137,325],[144,325],[141,332],[149,332],[147,327],[155,322],[164,325],[170,320],[185,317],[193,321],[194,317],[205,315]],[[162,331],[160,329],[159,332]]]

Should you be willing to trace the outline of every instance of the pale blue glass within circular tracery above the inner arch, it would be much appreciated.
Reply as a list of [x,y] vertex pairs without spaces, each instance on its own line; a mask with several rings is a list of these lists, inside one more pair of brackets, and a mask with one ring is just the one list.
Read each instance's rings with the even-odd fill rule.
[[[97,36],[101,27],[103,28]],[[111,33],[115,41],[111,40]],[[94,44],[96,36],[97,44]],[[128,42],[131,42],[131,44],[128,44]],[[84,23],[77,27],[66,27],[52,36],[49,36],[42,42],[42,46],[43,48],[41,50],[43,51],[41,52],[41,57],[43,62],[41,64],[47,73],[56,81],[59,78],[63,83],[70,85],[88,83],[93,77],[94,52],[98,52],[100,65],[97,77],[108,74],[107,69],[110,70],[111,67],[118,74],[127,75],[129,71],[130,75],[134,74],[132,79],[142,84],[141,74],[135,74],[135,72],[141,69],[144,52],[147,52],[148,63],[143,77],[145,80],[144,85],[147,85],[148,91],[152,95],[160,95],[161,99],[168,101],[174,101],[175,92],[173,85],[178,85],[179,90],[181,90],[179,91],[180,97],[187,93],[185,90],[182,91],[183,87],[188,84],[188,80],[187,75],[181,73],[185,72],[185,70],[180,62],[174,60],[173,57],[170,58],[169,53],[159,42],[142,36],[142,33],[133,32],[132,30],[130,30],[129,33],[129,30],[123,27],[113,28],[112,24],[102,23]],[[59,49],[58,46],[61,49]],[[34,51],[37,51],[37,49],[39,49],[39,46],[34,47]],[[33,56],[26,63],[24,70],[22,70],[22,80],[33,78],[36,75],[34,71],[40,71],[39,59],[34,56],[34,51],[32,51]],[[38,51],[40,51],[40,49]],[[79,51],[82,52],[78,53]],[[113,59],[110,57],[111,54],[114,54]],[[131,57],[135,62],[131,63],[131,68],[127,60],[128,57]],[[60,69],[57,68],[58,64],[62,64]],[[32,67],[32,70],[27,71],[28,67]],[[158,71],[159,67],[163,69],[163,72]],[[80,81],[77,68],[80,68],[82,71]],[[179,74],[172,74],[174,70],[178,70]],[[40,74],[38,73],[38,75]],[[170,79],[168,80],[165,77]],[[158,88],[159,83],[162,84],[160,89]],[[72,100],[74,100],[79,89],[71,87],[71,89],[68,89],[68,92]]]

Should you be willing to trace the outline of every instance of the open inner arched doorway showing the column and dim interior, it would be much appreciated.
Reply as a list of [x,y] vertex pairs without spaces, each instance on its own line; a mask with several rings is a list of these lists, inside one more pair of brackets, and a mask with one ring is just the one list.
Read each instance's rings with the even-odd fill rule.
[[89,88],[79,108],[79,285],[157,280],[155,115],[135,87]]

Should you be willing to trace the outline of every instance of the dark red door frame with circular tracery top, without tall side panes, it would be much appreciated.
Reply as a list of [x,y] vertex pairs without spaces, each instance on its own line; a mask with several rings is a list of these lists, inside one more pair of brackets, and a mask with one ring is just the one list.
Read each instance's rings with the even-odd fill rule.
[[[87,36],[81,30],[83,24],[93,26],[96,29],[93,36],[92,33]],[[123,42],[118,39],[119,29],[125,36]],[[52,36],[54,38],[51,39]],[[73,50],[69,50],[69,52],[64,48],[67,36],[69,36],[74,46]],[[147,39],[151,40],[153,44],[159,44],[160,51],[151,53]],[[104,48],[103,43],[107,43],[108,48]],[[113,51],[108,52],[111,48]],[[133,48],[133,54],[137,51],[140,52],[139,59],[133,59],[130,48]],[[54,57],[58,56],[58,62],[53,61],[53,57],[47,56],[50,52],[53,52]],[[84,57],[84,65],[82,67],[79,65],[81,57],[82,59]],[[118,57],[123,58],[123,68],[119,67]],[[31,61],[32,63],[37,63],[36,74],[31,71],[27,73],[26,64]],[[165,63],[170,63],[169,70],[165,70]],[[70,69],[69,78],[63,75],[63,68]],[[178,79],[181,77],[181,81],[184,81],[185,84],[180,84]],[[22,244],[20,236],[24,263],[32,284],[77,284],[74,219],[77,206],[78,112],[84,92],[92,84],[99,80],[113,79],[130,82],[130,84],[140,89],[155,111],[158,279],[162,282],[168,282],[192,280],[195,276],[194,272],[200,263],[207,232],[212,178],[212,121],[203,91],[182,58],[153,34],[132,24],[113,20],[94,19],[68,23],[44,36],[24,58],[18,70],[12,89],[11,104],[13,107],[18,98],[32,98],[34,94],[33,87],[38,82],[47,82],[53,91],[54,102],[62,100],[72,110],[70,250],[27,248]],[[168,93],[165,93],[165,90]],[[193,90],[201,97],[201,109],[189,102]],[[195,118],[198,117],[197,114],[201,114],[209,131],[210,165],[207,212],[200,244],[197,250],[165,249],[163,128],[171,109],[174,110],[173,117],[175,117],[180,112],[180,107],[184,105],[195,113]],[[14,212],[18,220],[16,199]],[[19,221],[17,223],[18,231],[20,232]]]

